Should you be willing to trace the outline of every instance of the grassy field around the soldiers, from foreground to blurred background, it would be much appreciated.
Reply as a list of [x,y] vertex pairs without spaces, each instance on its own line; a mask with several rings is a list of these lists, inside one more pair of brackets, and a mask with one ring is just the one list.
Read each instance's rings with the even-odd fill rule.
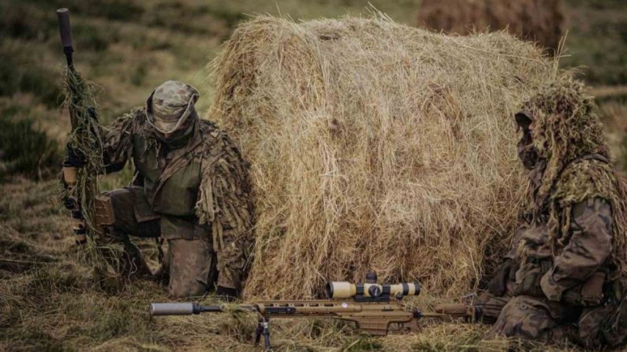
[[[371,0],[394,21],[419,23],[420,0]],[[152,282],[115,294],[98,291],[77,266],[70,227],[56,199],[57,168],[69,128],[60,109],[64,58],[55,9],[70,8],[75,61],[100,87],[103,123],[141,106],[154,86],[181,80],[201,90],[199,111],[213,91],[204,66],[240,21],[257,13],[293,19],[366,14],[367,1],[287,0],[0,0],[0,351],[250,349],[250,326],[216,317],[150,320],[150,299],[165,299]],[[560,65],[572,67],[597,96],[619,168],[627,169],[627,2],[567,0]],[[201,114],[204,115],[204,114]],[[130,168],[102,182],[120,187]],[[154,246],[142,246],[156,256]],[[233,328],[234,326],[234,328]],[[325,329],[329,326],[337,329]],[[213,331],[238,333],[216,336]],[[384,341],[329,334],[342,324],[280,323],[282,350],[502,350],[481,341],[481,328],[430,328],[423,336]],[[298,338],[290,339],[290,336]],[[455,336],[455,339],[451,339]],[[311,338],[315,338],[313,343]],[[226,341],[226,342],[224,342]],[[530,348],[534,346],[524,346]],[[208,348],[208,349],[214,349]],[[542,347],[537,347],[542,349]]]

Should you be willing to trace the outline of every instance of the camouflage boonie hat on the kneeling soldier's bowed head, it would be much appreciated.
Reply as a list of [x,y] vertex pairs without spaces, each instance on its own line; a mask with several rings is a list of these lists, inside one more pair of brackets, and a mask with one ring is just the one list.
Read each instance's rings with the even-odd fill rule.
[[171,133],[194,110],[198,90],[179,81],[166,81],[146,101],[148,121],[161,133]]

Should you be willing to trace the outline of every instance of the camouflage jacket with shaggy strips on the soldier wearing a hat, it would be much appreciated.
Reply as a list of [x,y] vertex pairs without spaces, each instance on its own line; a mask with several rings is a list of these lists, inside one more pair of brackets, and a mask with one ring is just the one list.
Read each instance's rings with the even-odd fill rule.
[[248,163],[226,133],[193,117],[191,133],[174,147],[157,138],[145,110],[119,118],[105,132],[105,172],[132,159],[134,184],[144,187],[146,200],[135,202],[138,221],[160,217],[167,239],[211,240],[218,285],[238,288],[252,245]]

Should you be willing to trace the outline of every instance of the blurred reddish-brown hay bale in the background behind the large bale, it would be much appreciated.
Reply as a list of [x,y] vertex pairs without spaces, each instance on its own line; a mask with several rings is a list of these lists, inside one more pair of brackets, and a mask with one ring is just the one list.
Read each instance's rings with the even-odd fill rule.
[[554,53],[564,33],[563,0],[422,0],[418,26],[466,35],[508,29]]

